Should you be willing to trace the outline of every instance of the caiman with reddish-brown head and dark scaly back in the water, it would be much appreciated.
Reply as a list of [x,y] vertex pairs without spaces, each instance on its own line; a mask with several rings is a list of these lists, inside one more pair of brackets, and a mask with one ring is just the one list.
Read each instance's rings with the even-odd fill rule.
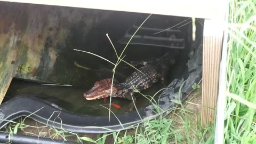
[[[174,62],[175,60],[172,58],[170,52],[157,59],[135,62],[135,65],[143,66],[137,71],[134,71],[123,83],[119,83],[114,79],[111,97],[133,99],[135,101],[136,99],[132,94],[134,90],[146,90],[160,79],[165,84],[169,67]],[[111,78],[107,78],[95,82],[94,86],[84,93],[84,97],[87,100],[109,97],[111,93],[111,80]]]

